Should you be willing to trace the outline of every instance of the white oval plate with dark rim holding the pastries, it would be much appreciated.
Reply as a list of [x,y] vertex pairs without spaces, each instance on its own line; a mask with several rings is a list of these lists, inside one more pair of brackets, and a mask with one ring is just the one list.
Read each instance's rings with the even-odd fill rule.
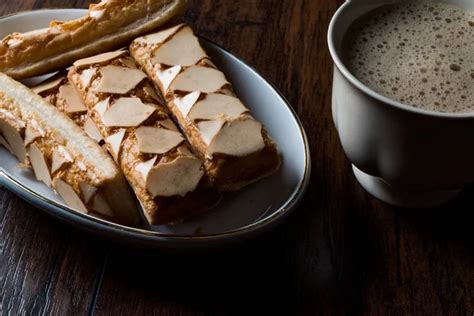
[[[46,27],[51,20],[81,17],[85,10],[39,10],[0,19],[0,38],[12,32]],[[305,132],[288,102],[252,68],[216,44],[201,39],[216,65],[234,84],[237,94],[278,144],[283,164],[274,176],[246,189],[226,194],[211,212],[175,226],[132,228],[75,212],[51,189],[0,147],[0,184],[31,204],[86,231],[135,245],[191,248],[250,238],[274,227],[298,204],[310,177],[310,153]],[[28,80],[35,84],[39,79]]]

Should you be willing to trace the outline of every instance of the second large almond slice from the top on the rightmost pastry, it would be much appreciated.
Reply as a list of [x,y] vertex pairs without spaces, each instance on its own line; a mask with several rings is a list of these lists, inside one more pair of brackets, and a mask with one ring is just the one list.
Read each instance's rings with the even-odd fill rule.
[[217,92],[229,84],[224,74],[214,68],[191,66],[179,74],[170,89],[173,91]]

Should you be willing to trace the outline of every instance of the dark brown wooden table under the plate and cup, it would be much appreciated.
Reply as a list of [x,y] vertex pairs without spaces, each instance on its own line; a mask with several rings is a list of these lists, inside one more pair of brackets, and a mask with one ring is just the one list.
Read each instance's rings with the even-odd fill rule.
[[[85,0],[0,1],[0,15]],[[330,110],[329,19],[342,0],[192,0],[186,21],[276,84],[309,136],[309,192],[282,226],[206,253],[125,248],[0,189],[0,314],[474,313],[472,189],[398,209],[356,183]]]

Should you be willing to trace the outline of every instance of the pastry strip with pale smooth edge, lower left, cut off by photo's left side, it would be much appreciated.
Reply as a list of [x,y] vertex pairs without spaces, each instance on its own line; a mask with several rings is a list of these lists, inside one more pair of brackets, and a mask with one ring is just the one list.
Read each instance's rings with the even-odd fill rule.
[[63,113],[1,73],[0,143],[76,211],[137,223],[133,195],[112,159]]

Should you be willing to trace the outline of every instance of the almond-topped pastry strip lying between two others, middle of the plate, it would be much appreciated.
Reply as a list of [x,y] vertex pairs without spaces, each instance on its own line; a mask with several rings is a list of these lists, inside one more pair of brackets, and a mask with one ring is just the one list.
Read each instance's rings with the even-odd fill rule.
[[150,224],[182,221],[220,200],[201,160],[128,52],[79,60],[68,77]]

